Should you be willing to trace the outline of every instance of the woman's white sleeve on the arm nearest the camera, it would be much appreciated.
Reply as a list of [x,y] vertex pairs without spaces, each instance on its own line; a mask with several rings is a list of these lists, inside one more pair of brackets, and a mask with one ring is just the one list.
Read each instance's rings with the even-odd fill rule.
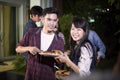
[[79,58],[78,67],[81,77],[90,75],[90,66],[92,63],[93,53],[86,47],[81,47],[81,57]]

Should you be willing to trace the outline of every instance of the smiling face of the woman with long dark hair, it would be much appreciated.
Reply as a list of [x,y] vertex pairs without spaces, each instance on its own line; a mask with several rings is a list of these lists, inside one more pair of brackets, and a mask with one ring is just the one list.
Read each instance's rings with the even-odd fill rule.
[[75,25],[72,24],[70,34],[73,40],[79,43],[85,33],[82,28],[76,28]]

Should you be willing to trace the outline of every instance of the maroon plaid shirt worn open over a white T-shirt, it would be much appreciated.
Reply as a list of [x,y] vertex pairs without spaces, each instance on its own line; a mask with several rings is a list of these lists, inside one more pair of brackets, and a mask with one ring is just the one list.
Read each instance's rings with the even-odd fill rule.
[[[30,29],[23,39],[18,43],[17,46],[36,46],[40,48],[41,29],[32,28]],[[64,51],[63,39],[55,35],[52,44],[47,51],[61,50]],[[39,54],[32,55],[28,54],[27,58],[27,70],[25,80],[56,80],[53,71],[54,66],[53,57],[45,57]]]

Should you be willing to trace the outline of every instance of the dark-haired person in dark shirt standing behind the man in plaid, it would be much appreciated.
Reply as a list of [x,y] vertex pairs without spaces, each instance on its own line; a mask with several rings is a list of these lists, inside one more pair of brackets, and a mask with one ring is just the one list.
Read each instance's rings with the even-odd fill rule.
[[[43,9],[40,6],[33,6],[30,10],[31,19],[26,23],[23,30],[23,36],[30,28],[37,27],[36,22],[41,21]],[[28,53],[22,54],[25,60],[27,60]]]

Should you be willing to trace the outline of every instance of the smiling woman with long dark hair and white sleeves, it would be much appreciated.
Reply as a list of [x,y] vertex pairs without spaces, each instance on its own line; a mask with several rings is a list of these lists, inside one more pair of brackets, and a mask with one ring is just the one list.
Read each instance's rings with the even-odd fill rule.
[[70,29],[70,58],[67,55],[57,57],[80,77],[89,76],[95,67],[94,51],[87,39],[88,34],[89,25],[87,21],[81,17],[74,17]]

